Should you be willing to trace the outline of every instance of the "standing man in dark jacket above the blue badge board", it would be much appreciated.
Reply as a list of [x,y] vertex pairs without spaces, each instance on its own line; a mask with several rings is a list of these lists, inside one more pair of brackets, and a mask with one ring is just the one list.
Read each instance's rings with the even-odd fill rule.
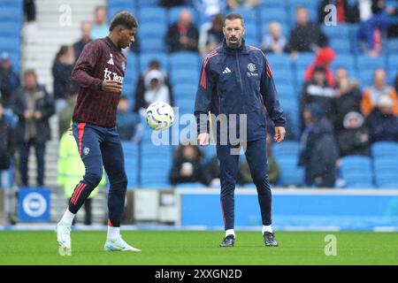
[[19,146],[19,171],[22,185],[28,186],[27,162],[29,149],[34,146],[37,162],[37,186],[44,180],[44,150],[50,140],[49,119],[54,114],[54,103],[46,89],[37,83],[36,73],[24,73],[24,85],[15,97],[13,110],[19,117],[17,142]]

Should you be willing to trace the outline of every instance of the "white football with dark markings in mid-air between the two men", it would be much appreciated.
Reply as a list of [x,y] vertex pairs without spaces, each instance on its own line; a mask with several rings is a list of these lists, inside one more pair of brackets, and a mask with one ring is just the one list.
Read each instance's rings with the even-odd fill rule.
[[145,121],[153,130],[163,131],[174,121],[174,111],[172,106],[167,103],[152,103],[145,112]]

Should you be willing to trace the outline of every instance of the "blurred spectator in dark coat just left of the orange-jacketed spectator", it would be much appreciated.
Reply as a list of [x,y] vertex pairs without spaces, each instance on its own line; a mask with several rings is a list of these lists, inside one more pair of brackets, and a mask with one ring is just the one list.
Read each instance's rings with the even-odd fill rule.
[[[333,124],[336,134],[343,128],[344,117],[348,112],[361,112],[361,89],[356,80],[347,78],[347,71],[344,68],[338,68],[336,71],[336,97],[333,100]],[[342,77],[341,76],[345,76]]]

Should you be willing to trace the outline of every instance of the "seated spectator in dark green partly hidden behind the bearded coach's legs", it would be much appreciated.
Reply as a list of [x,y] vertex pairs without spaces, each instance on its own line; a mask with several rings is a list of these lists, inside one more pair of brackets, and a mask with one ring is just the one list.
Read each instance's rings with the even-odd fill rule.
[[[272,157],[272,142],[270,135],[267,135],[267,166],[268,166],[268,180],[270,184],[276,185],[279,178],[279,166],[275,161],[275,158]],[[250,168],[248,161],[246,159],[242,160],[239,163],[238,170],[238,184],[245,185],[253,183],[253,179],[251,178]]]

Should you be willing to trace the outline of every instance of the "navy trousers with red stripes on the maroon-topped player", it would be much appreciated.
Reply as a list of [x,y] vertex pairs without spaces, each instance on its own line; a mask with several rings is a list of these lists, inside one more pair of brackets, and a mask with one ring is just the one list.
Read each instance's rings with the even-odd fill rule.
[[74,189],[69,210],[73,213],[80,210],[88,195],[103,179],[104,168],[111,183],[108,195],[108,224],[120,226],[125,207],[127,177],[123,148],[116,126],[108,128],[74,122],[73,136],[86,172],[83,180]]

